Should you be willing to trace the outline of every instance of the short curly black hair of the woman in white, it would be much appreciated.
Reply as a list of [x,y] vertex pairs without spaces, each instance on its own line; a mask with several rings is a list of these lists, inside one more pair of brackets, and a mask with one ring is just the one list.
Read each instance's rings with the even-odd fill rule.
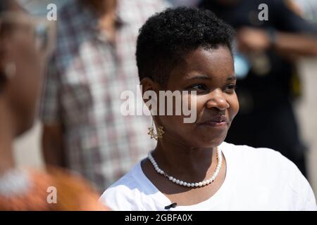
[[190,51],[227,46],[232,53],[234,34],[230,25],[206,9],[178,7],[156,13],[139,30],[139,79],[149,77],[165,86],[170,71]]

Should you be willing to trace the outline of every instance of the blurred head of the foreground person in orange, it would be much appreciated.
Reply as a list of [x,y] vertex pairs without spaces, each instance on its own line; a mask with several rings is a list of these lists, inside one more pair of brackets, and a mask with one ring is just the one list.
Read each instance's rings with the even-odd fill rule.
[[0,116],[6,132],[18,136],[32,127],[52,36],[46,20],[31,18],[14,1],[0,7]]

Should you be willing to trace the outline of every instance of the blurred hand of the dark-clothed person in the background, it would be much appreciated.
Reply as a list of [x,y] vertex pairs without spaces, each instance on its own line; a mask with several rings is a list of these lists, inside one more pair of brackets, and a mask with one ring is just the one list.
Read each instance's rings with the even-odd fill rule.
[[238,49],[245,53],[265,51],[271,46],[266,30],[242,27],[237,31]]

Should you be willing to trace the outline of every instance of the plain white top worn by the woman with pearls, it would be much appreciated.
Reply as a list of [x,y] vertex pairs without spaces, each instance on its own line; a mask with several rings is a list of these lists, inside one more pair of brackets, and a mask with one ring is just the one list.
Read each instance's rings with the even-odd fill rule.
[[[208,200],[170,210],[316,210],[309,182],[293,162],[275,150],[220,146],[227,162],[225,181]],[[212,184],[211,184],[212,185]],[[164,210],[170,200],[147,179],[139,162],[99,200],[113,210]]]

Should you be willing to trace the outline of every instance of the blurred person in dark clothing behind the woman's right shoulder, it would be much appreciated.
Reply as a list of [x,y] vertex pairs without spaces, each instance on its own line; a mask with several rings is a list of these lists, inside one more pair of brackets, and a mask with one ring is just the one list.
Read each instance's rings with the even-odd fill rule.
[[[267,20],[259,16],[266,4]],[[237,30],[235,70],[240,113],[227,141],[280,150],[306,175],[305,146],[292,110],[300,95],[294,63],[299,56],[317,56],[316,27],[301,18],[293,1],[202,1]]]

